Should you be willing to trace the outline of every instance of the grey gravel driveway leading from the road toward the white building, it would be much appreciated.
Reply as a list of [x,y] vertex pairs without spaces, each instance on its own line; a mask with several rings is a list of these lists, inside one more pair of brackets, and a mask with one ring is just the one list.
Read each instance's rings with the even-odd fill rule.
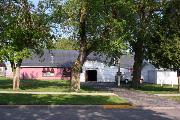
[[115,93],[135,106],[142,107],[180,107],[180,103],[167,99],[165,97],[160,97],[153,94],[146,94],[141,91],[136,91],[132,89],[127,89],[123,87],[117,87],[115,83],[97,83],[89,82],[83,83],[82,85],[93,87],[102,91],[107,91]]

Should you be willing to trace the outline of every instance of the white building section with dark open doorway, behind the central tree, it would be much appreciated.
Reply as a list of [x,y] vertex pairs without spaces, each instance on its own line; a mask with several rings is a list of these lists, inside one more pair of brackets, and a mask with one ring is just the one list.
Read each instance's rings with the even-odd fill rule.
[[[102,56],[101,56],[102,57]],[[87,60],[80,74],[80,81],[97,81],[97,82],[115,82],[115,76],[118,71],[117,66],[108,66],[101,61]],[[133,66],[133,56],[123,55],[121,57],[121,69],[122,74],[129,73]]]

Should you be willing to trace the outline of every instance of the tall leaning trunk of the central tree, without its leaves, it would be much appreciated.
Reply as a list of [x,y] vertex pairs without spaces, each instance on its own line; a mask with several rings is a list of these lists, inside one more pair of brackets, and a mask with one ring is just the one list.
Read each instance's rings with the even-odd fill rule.
[[79,26],[79,35],[80,35],[80,49],[79,56],[75,61],[72,71],[71,71],[71,89],[74,91],[80,90],[80,72],[82,66],[87,57],[87,37],[86,37],[86,15],[87,15],[88,1],[84,0],[80,9],[80,26]]

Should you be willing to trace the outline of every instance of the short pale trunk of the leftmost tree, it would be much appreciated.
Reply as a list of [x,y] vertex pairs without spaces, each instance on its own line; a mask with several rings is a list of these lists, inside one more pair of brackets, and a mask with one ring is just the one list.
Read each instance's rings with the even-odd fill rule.
[[13,73],[13,90],[18,90],[20,86],[20,63],[16,64],[15,71]]

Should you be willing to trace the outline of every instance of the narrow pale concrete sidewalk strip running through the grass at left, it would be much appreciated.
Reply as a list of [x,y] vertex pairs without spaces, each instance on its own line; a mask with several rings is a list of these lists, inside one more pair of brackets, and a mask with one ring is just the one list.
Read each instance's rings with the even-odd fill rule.
[[77,93],[77,92],[22,92],[22,91],[0,91],[2,94],[41,94],[41,95],[91,95],[91,96],[118,96],[114,93]]

